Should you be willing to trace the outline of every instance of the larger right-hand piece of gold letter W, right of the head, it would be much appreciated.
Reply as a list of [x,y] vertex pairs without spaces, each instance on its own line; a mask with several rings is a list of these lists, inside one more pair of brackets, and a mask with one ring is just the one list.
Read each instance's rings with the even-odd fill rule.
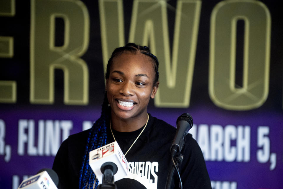
[[166,1],[134,1],[129,42],[149,45],[159,59],[157,107],[189,107],[201,1],[177,1],[170,57]]

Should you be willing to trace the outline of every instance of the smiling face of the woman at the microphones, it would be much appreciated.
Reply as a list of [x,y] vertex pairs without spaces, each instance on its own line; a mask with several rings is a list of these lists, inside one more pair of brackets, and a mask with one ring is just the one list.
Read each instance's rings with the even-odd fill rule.
[[146,115],[149,99],[154,98],[159,84],[153,83],[153,64],[149,56],[139,52],[113,58],[105,86],[112,116],[129,119]]

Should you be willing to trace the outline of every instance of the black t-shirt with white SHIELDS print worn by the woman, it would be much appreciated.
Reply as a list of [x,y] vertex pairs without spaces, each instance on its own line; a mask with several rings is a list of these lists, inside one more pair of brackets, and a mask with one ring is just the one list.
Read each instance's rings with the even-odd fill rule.
[[[142,129],[143,127],[133,132],[118,132],[112,129],[124,154]],[[117,188],[164,189],[168,172],[172,166],[170,146],[175,132],[175,127],[149,114],[146,128],[126,154],[129,175],[127,178],[115,182]],[[89,130],[70,135],[60,146],[53,163],[53,170],[57,172],[59,177],[58,188],[78,188],[88,133]],[[107,143],[113,141],[108,125]],[[183,188],[210,189],[210,179],[202,151],[191,134],[186,136],[181,153],[184,159],[179,169]],[[175,174],[172,188],[177,186],[178,182],[177,174]]]

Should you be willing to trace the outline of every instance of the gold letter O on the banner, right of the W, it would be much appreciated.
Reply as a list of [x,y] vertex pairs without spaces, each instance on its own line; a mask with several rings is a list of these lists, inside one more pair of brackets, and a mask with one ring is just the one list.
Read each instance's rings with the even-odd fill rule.
[[[236,22],[245,22],[243,85],[235,87]],[[228,110],[260,107],[268,96],[271,18],[255,0],[218,3],[211,15],[209,95]]]

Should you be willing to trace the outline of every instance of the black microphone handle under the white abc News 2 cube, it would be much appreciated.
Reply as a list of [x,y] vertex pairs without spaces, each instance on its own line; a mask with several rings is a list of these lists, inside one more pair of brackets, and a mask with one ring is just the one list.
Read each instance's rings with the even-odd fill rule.
[[114,183],[114,175],[116,174],[118,167],[115,163],[105,162],[100,168],[103,173],[102,184],[98,185],[98,189],[117,189]]

